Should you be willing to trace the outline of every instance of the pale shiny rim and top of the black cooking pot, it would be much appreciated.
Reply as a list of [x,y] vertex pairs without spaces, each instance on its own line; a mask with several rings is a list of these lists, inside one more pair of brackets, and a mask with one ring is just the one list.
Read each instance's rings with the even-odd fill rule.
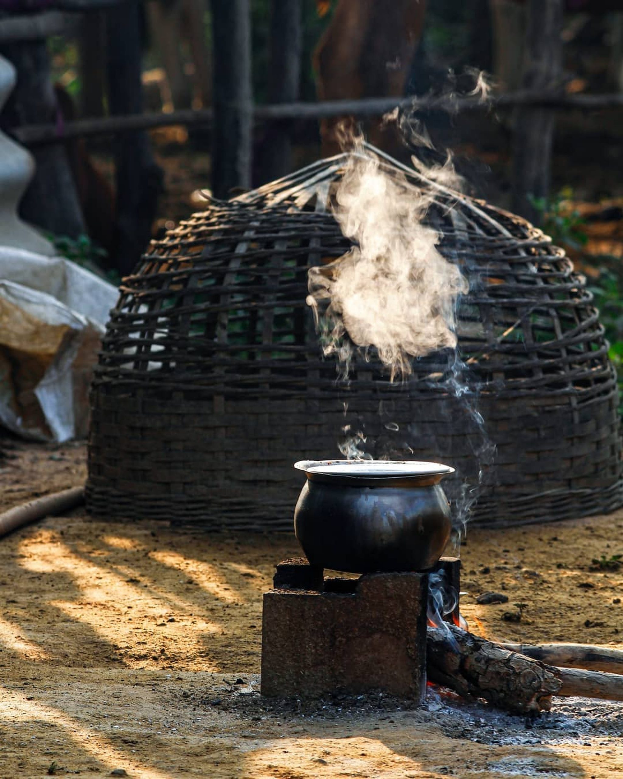
[[309,481],[350,487],[424,487],[455,472],[428,460],[299,460],[294,467]]

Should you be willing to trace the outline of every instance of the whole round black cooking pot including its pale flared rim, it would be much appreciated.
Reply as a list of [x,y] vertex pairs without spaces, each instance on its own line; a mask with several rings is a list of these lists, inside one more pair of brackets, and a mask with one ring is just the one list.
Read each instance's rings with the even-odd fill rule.
[[301,460],[294,532],[312,566],[425,571],[449,539],[441,485],[454,468],[419,460]]

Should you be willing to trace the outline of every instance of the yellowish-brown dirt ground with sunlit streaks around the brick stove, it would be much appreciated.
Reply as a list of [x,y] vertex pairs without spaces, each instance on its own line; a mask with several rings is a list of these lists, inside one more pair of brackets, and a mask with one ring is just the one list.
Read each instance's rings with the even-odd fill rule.
[[[81,445],[2,450],[0,510],[85,478]],[[263,700],[262,592],[297,553],[294,534],[82,509],[0,540],[0,777],[623,777],[623,703],[554,699],[529,723],[435,689],[419,709]],[[623,512],[470,528],[463,615],[491,639],[623,649],[623,569],[592,569],[621,553]],[[488,590],[509,602],[477,605]]]

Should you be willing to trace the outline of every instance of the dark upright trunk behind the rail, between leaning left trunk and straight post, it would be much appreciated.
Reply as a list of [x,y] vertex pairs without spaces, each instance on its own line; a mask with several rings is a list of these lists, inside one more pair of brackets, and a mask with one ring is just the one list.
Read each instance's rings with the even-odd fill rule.
[[[112,115],[143,111],[141,20],[138,2],[107,11],[108,102]],[[114,266],[132,272],[151,238],[162,171],[146,132],[128,132],[114,142],[117,213]]]

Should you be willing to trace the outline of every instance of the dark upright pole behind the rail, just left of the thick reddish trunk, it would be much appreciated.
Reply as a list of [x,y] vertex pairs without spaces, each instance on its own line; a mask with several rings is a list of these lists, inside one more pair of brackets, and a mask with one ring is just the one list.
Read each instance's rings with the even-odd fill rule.
[[[273,0],[270,19],[269,102],[294,103],[301,80],[301,0]],[[266,126],[259,165],[260,183],[292,170],[291,122]]]

